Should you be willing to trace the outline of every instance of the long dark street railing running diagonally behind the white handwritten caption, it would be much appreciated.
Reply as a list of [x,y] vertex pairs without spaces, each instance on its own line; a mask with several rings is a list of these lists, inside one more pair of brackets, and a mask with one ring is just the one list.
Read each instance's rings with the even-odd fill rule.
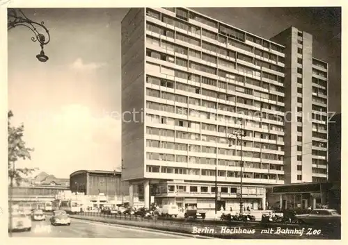
[[[196,229],[213,229],[216,230],[216,233],[205,233],[203,235],[209,237],[220,237],[220,238],[240,238],[241,234],[235,233],[221,233],[219,230],[223,228],[234,229],[241,228],[246,230],[255,230],[255,233],[258,234],[260,239],[263,239],[263,236],[267,236],[262,234],[262,230],[273,228],[276,230],[281,227],[282,229],[299,229],[305,228],[318,230],[321,229],[322,233],[319,237],[325,239],[327,237],[337,237],[338,232],[337,228],[332,229],[330,227],[315,227],[313,225],[307,224],[291,224],[291,223],[262,223],[260,221],[221,221],[221,220],[206,220],[206,219],[184,219],[184,218],[171,218],[171,217],[158,217],[158,216],[150,216],[150,217],[141,217],[136,216],[134,214],[106,214],[102,212],[79,212],[77,214],[72,214],[72,218],[77,219],[88,219],[92,221],[102,221],[106,223],[116,223],[125,226],[133,226],[133,227],[141,227],[141,228],[152,228],[157,230],[164,230],[182,234],[190,234],[194,232]],[[109,221],[108,221],[109,220]],[[243,235],[243,234],[242,234]],[[293,235],[289,235],[290,237]],[[317,238],[319,238],[317,237]],[[338,238],[331,239],[338,239]],[[242,238],[250,239],[251,236],[245,235]],[[269,237],[271,238],[271,237]],[[313,237],[314,238],[314,237]],[[329,238],[330,239],[330,238]]]

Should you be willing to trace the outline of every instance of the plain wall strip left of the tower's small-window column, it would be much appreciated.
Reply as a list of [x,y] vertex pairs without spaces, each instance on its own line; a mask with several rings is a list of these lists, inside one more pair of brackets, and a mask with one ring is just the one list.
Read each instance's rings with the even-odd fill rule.
[[287,28],[271,38],[285,46],[285,184],[297,181],[297,29]]

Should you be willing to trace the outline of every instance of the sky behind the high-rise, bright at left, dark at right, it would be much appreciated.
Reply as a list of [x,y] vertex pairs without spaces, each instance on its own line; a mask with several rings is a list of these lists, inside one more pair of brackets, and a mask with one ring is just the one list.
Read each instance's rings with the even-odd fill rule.
[[[193,8],[269,38],[289,26],[313,34],[314,56],[329,62],[329,111],[340,112],[340,10]],[[120,22],[128,8],[22,9],[45,22],[49,60],[38,62],[31,31],[8,31],[8,109],[35,151],[19,167],[58,178],[79,169],[120,167]],[[116,113],[115,113],[116,112]]]

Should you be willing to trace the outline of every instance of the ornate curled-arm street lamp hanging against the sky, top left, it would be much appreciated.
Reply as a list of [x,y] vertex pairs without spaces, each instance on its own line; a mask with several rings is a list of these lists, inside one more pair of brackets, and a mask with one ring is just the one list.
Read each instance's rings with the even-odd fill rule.
[[[16,26],[25,26],[29,28],[33,33],[34,36],[31,37],[31,40],[33,42],[38,41],[40,43],[41,51],[36,56],[36,58],[40,62],[46,62],[48,60],[48,56],[45,55],[44,52],[44,46],[49,43],[50,37],[49,37],[49,31],[47,30],[46,26],[44,26],[44,22],[38,23],[33,22],[31,19],[28,19],[22,12],[22,10],[16,10],[14,8],[8,8],[7,12],[7,30],[16,27]],[[43,31],[47,33],[47,37],[40,33],[38,31],[38,28],[42,28]]]

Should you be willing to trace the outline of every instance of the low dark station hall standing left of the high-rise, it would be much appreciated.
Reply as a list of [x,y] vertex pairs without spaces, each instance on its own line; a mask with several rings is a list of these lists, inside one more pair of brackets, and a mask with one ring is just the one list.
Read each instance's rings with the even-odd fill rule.
[[128,183],[121,181],[121,173],[117,171],[79,170],[70,174],[71,192],[83,192],[88,196],[126,196]]

